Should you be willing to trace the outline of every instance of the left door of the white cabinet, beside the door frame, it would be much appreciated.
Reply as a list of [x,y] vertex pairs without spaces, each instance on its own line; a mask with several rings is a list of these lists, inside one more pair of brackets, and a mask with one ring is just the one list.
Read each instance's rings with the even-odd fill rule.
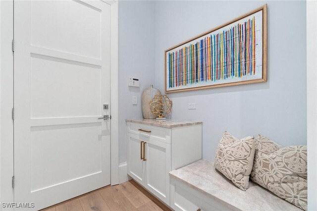
[[128,174],[137,182],[144,185],[145,166],[143,160],[143,143],[149,138],[128,133],[128,148],[127,148],[127,166]]

